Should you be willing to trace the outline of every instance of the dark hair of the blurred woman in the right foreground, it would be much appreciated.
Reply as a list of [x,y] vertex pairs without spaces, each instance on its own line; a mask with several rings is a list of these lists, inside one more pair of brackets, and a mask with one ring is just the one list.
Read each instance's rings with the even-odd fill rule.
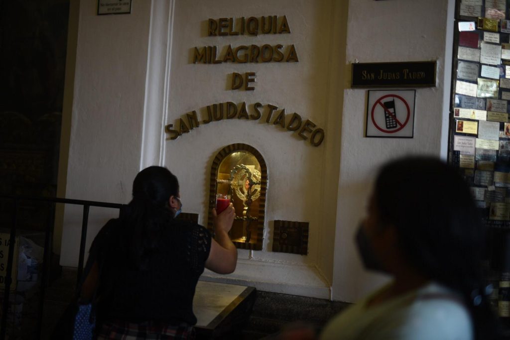
[[[380,169],[374,199],[381,222],[397,228],[410,263],[462,294],[476,339],[497,338],[498,321],[481,292],[486,230],[457,169],[427,156],[395,160]],[[477,295],[482,301],[475,306]]]

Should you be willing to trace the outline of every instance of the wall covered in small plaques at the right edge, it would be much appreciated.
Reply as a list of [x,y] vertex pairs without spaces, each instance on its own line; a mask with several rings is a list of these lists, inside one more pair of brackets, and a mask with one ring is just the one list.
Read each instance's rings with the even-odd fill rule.
[[[510,272],[509,12],[506,0],[457,0],[453,42],[449,161],[470,183],[489,228],[486,275],[496,288]],[[502,292],[492,303],[510,317]]]

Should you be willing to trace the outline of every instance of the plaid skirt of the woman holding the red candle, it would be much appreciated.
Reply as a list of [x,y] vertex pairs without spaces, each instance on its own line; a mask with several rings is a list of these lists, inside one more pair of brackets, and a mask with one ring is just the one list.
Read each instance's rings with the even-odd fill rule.
[[122,320],[105,322],[99,330],[97,339],[115,340],[167,340],[167,339],[195,339],[195,329],[188,324],[173,326],[164,322],[146,321],[132,323]]

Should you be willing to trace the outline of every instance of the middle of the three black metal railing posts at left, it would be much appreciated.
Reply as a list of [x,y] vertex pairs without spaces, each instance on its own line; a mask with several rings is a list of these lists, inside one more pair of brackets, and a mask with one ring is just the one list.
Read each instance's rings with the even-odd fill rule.
[[[42,260],[42,275],[41,275],[41,292],[39,296],[39,311],[37,318],[37,336],[41,338],[42,329],[42,316],[44,312],[44,298],[46,294],[46,287],[49,284],[49,270],[52,261],[53,252],[53,227],[55,225],[55,203],[48,204],[48,221],[46,224],[46,232],[44,233],[44,255]],[[52,209],[53,207],[53,209]]]

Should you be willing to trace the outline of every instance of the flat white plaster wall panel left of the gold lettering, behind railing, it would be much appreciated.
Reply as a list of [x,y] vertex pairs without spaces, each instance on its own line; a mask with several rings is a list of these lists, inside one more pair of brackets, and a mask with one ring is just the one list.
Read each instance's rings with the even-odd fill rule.
[[[96,15],[81,1],[66,198],[127,203],[139,170],[150,2],[132,14]],[[87,249],[118,211],[91,208]],[[67,205],[60,263],[77,267],[82,210]]]

